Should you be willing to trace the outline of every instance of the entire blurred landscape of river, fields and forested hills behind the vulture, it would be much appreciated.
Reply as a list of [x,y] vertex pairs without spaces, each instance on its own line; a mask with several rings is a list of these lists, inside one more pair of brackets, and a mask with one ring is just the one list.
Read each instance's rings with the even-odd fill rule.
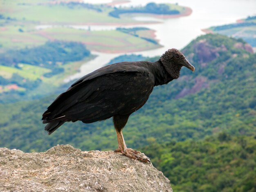
[[175,191],[256,191],[256,0],[0,0],[0,147],[115,150],[111,119],[41,116],[77,78],[180,49],[195,66],[155,87],[124,129]]

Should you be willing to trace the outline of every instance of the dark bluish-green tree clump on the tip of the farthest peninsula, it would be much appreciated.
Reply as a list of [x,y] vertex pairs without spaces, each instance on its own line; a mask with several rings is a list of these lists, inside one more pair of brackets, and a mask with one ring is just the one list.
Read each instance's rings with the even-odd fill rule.
[[160,15],[174,15],[179,14],[180,11],[170,9],[168,4],[156,4],[154,2],[146,4],[145,7],[132,7],[132,8],[115,8],[114,11],[108,14],[114,18],[119,18],[124,13],[152,13]]

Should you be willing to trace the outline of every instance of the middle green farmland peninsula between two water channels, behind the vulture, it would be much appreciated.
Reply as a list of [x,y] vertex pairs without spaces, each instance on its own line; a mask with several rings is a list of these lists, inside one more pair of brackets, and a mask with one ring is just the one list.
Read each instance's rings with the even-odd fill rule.
[[[19,26],[5,26],[1,31],[0,47],[2,52],[8,49],[34,48],[34,46],[44,45],[47,41],[74,41],[83,42],[90,50],[96,51],[134,51],[155,49],[160,45],[154,37],[147,37],[150,30],[136,30],[137,36],[124,31],[90,31],[73,29],[69,27],[52,27],[36,31],[28,31],[23,27],[24,32],[19,32]],[[15,38],[14,38],[15,37]],[[129,45],[129,46],[127,46]]]

